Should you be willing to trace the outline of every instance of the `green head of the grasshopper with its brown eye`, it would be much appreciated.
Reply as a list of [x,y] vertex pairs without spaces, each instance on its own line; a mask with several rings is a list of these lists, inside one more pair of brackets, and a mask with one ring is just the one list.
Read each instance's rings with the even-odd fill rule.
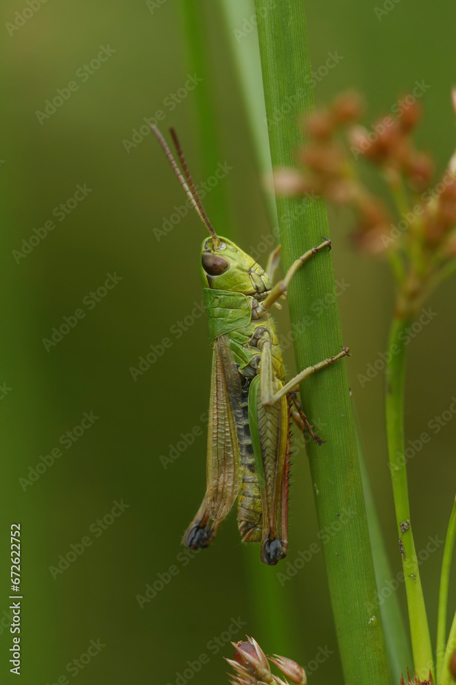
[[201,250],[201,277],[204,288],[243,292],[263,299],[271,290],[265,271],[235,242],[217,236],[206,238]]

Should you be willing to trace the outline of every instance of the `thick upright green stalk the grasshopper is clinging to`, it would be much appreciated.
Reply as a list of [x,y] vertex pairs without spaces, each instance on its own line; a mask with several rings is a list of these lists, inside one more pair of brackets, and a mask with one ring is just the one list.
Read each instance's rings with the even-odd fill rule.
[[[302,145],[301,118],[313,110],[311,65],[301,0],[256,0],[269,142],[274,167],[292,167]],[[277,201],[285,267],[328,235],[322,200]],[[328,295],[332,306],[324,306]],[[342,343],[331,253],[319,253],[293,278],[289,306],[298,369],[339,351]],[[355,427],[344,361],[301,384],[311,417],[324,417],[326,443],[309,445],[319,525],[331,531],[324,558],[345,682],[388,679],[385,640],[376,605]],[[340,518],[339,518],[340,517]],[[344,523],[342,523],[344,521]]]

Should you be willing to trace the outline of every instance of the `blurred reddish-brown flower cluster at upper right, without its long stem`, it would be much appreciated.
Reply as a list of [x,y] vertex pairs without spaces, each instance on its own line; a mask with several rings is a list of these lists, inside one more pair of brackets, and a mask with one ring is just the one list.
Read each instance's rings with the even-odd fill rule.
[[[275,186],[283,194],[316,194],[355,210],[355,244],[366,253],[389,256],[403,313],[413,314],[456,270],[456,153],[435,179],[433,160],[413,145],[420,119],[416,98],[401,102],[396,114],[366,129],[359,123],[361,97],[340,95],[307,119],[309,142],[298,152],[305,172],[278,171]],[[456,111],[456,92],[453,107]],[[381,171],[392,202],[376,197],[360,179],[360,159]]]

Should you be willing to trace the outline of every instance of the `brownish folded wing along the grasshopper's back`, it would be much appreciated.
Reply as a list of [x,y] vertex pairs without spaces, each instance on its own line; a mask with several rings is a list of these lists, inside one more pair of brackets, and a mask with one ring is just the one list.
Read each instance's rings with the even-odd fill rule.
[[214,340],[207,445],[206,503],[214,521],[223,520],[241,486],[243,411],[241,375],[226,336]]

